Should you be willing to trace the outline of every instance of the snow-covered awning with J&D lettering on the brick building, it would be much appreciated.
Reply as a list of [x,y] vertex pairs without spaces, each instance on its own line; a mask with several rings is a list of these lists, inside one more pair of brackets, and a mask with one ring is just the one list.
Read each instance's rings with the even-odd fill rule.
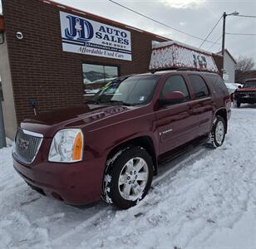
[[218,72],[211,53],[178,41],[153,44],[150,70],[190,68],[199,71]]

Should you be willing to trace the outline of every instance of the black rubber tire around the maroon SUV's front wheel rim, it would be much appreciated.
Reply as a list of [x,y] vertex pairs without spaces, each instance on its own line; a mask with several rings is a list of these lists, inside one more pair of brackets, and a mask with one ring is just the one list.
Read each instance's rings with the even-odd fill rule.
[[[119,179],[126,163],[135,158],[143,159],[147,164],[147,180],[145,181],[145,188],[142,191],[140,197],[133,200],[127,200],[121,196]],[[103,183],[103,198],[105,199],[106,203],[111,203],[121,209],[133,207],[138,201],[145,198],[145,195],[150,190],[153,178],[153,162],[150,154],[148,154],[148,152],[141,147],[130,147],[121,150],[112,159],[110,159],[110,161],[111,160],[113,161],[107,166],[105,173]]]

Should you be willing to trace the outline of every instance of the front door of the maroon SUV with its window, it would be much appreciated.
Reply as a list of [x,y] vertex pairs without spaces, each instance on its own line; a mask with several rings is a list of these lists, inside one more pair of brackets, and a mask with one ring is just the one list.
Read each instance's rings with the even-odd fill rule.
[[185,100],[181,103],[160,106],[155,112],[156,129],[160,141],[160,154],[175,149],[191,139],[191,130],[194,129],[190,115],[190,90],[182,75],[169,76],[160,92],[160,99],[166,94],[180,91]]

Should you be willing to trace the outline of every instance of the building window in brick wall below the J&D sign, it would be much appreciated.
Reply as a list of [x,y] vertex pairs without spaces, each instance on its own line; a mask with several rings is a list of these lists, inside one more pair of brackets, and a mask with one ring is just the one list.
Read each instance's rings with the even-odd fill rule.
[[82,72],[84,85],[95,83],[105,85],[118,77],[117,66],[83,64]]

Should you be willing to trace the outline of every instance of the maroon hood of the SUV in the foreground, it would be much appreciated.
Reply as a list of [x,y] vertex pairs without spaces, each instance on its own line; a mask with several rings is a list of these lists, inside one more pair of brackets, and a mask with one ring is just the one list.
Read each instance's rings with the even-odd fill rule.
[[57,130],[82,128],[99,120],[118,115],[130,107],[124,105],[81,105],[44,112],[22,121],[22,129],[52,137]]

